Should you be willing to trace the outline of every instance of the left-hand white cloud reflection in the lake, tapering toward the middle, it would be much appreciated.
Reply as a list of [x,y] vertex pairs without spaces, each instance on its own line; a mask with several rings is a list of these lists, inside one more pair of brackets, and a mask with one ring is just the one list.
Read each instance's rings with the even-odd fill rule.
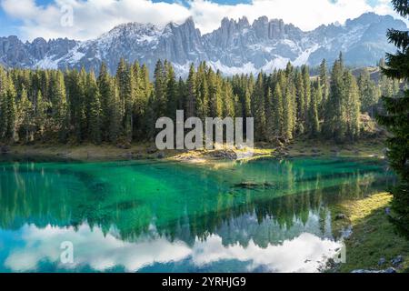
[[[135,272],[155,262],[169,263],[191,255],[185,243],[171,243],[165,238],[141,240],[129,243],[113,234],[104,235],[100,228],[91,229],[87,225],[77,230],[73,227],[58,228],[46,226],[24,226],[22,238],[25,247],[15,247],[5,259],[5,266],[15,272],[34,271],[41,261],[48,260],[60,268],[91,266],[97,271],[105,271],[113,266],[124,266],[127,272]],[[74,264],[62,265],[60,245],[64,241],[74,245]]]

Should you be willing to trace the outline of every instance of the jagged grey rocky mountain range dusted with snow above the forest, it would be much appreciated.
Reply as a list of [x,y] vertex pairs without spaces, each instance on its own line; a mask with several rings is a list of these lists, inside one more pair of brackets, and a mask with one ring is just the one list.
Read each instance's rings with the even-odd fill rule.
[[243,17],[224,18],[214,32],[202,35],[192,18],[165,26],[130,23],[89,41],[36,38],[23,43],[16,36],[0,37],[0,64],[26,68],[80,68],[98,71],[105,62],[112,73],[121,57],[139,61],[154,71],[158,59],[175,65],[179,75],[189,65],[206,61],[225,75],[270,72],[293,65],[319,65],[323,58],[332,63],[339,52],[346,65],[375,65],[385,52],[394,52],[386,31],[394,27],[406,30],[401,20],[390,15],[368,13],[350,19],[344,25],[321,25],[302,31],[282,20],[263,16],[253,24]]

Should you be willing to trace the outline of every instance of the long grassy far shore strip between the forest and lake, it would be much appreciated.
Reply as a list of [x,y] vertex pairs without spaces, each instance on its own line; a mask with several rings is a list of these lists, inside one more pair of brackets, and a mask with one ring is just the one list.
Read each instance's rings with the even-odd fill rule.
[[[334,145],[319,140],[296,140],[293,143],[275,147],[269,144],[256,144],[254,152],[248,158],[260,156],[295,157],[295,156],[357,156],[383,157],[383,140],[363,140],[352,145]],[[175,160],[204,162],[206,160],[234,159],[244,156],[244,151],[158,151],[155,144],[139,143],[127,148],[112,145],[43,145],[8,146],[7,153],[14,156],[47,156],[75,160],[112,160],[112,159],[151,159],[171,158]],[[232,155],[233,154],[233,155]]]

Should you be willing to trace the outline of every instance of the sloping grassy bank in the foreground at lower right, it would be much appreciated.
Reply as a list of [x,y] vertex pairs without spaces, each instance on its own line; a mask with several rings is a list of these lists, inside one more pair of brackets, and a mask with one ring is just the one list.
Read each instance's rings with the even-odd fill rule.
[[[353,232],[344,241],[346,263],[335,266],[333,271],[384,270],[394,266],[398,272],[409,272],[409,240],[396,231],[385,213],[391,200],[391,195],[380,193],[334,206],[335,216],[345,216],[338,220],[334,216],[334,229],[351,225]],[[393,264],[391,261],[397,256],[404,260]]]

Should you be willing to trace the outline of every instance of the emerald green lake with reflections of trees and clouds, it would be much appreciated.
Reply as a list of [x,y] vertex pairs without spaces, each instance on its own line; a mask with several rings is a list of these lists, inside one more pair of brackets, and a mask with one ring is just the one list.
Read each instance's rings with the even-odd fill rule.
[[340,247],[330,206],[393,183],[341,158],[1,162],[0,272],[314,272]]

